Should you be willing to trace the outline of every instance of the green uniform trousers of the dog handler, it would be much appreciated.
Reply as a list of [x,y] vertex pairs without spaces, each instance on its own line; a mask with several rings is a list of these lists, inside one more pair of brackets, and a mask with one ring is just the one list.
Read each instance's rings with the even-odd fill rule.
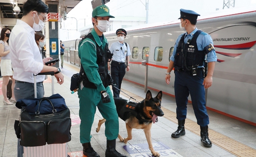
[[[94,121],[96,107],[99,112],[106,119],[105,122],[105,136],[107,140],[114,140],[118,138],[119,123],[116,105],[113,99],[112,92],[109,87],[106,91],[110,96],[110,103],[102,103],[101,94],[96,89],[83,87],[79,89],[79,117],[80,123],[80,142],[87,143],[91,141],[91,129]],[[94,128],[93,130],[96,130]]]

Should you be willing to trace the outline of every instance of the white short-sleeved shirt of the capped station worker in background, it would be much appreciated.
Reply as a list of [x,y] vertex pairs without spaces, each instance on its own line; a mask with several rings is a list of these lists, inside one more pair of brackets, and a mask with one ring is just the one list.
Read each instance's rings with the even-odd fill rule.
[[126,45],[123,43],[120,43],[119,41],[114,42],[110,46],[110,52],[114,53],[113,60],[117,62],[125,62],[126,61],[126,54],[129,56],[131,55],[129,44]]

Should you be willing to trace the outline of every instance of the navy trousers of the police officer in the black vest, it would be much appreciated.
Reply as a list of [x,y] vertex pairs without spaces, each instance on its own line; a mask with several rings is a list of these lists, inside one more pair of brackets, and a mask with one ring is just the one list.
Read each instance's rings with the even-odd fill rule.
[[197,75],[192,76],[188,71],[175,70],[175,99],[177,120],[186,119],[188,96],[190,94],[197,124],[206,126],[209,124],[209,117],[206,111],[205,89],[203,84],[203,70],[198,69]]

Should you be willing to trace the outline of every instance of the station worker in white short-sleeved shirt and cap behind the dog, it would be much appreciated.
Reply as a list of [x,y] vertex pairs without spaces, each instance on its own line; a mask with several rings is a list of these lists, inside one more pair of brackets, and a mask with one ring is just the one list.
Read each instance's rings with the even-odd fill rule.
[[118,29],[116,31],[118,41],[114,42],[110,46],[110,52],[113,53],[111,62],[111,77],[115,85],[112,85],[113,97],[119,98],[121,83],[125,75],[125,68],[130,70],[129,55],[131,55],[129,44],[124,42],[124,38],[127,35],[124,29]]

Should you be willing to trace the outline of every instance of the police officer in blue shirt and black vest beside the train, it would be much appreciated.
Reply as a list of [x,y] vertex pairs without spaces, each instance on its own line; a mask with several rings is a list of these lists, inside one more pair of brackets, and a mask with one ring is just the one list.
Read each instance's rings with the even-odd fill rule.
[[[178,120],[177,131],[173,138],[185,135],[188,96],[191,95],[193,109],[200,125],[203,146],[211,147],[208,135],[209,117],[206,110],[205,89],[212,86],[215,62],[217,61],[213,40],[210,35],[197,29],[197,17],[192,10],[180,9],[180,28],[185,33],[178,36],[174,52],[170,57],[165,81],[170,83],[170,72],[175,69],[175,99]],[[207,66],[208,62],[208,71]]]

